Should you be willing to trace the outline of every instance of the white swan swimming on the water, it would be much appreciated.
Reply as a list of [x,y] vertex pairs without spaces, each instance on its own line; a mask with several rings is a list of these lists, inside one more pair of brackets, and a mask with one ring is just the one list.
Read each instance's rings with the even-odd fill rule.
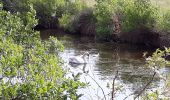
[[69,63],[71,63],[71,64],[87,64],[87,60],[85,59],[86,56],[88,56],[88,59],[89,59],[89,53],[88,52],[85,52],[81,56],[69,58]]

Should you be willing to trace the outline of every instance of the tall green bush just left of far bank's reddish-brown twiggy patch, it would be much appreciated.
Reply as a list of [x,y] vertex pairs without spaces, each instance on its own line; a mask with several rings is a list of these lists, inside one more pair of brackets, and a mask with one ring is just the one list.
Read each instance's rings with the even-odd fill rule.
[[112,17],[116,0],[96,0],[94,16],[98,38],[107,38],[114,31]]

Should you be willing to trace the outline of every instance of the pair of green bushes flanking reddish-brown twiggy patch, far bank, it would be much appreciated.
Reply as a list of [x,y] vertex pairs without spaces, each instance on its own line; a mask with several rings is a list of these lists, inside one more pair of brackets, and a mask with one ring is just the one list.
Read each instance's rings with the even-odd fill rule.
[[152,30],[156,23],[157,9],[152,6],[150,0],[96,0],[96,2],[94,11],[97,20],[96,31],[101,38],[107,38],[117,30],[123,32]]

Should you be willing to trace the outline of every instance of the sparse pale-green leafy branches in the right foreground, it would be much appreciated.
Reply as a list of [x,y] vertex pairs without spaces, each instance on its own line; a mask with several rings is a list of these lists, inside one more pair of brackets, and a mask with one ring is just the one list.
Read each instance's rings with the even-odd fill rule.
[[159,73],[159,69],[162,67],[170,66],[170,61],[168,61],[167,57],[169,57],[170,54],[170,48],[165,48],[165,50],[159,50],[157,49],[151,57],[148,57],[147,60],[147,66],[153,70],[155,70],[156,74],[160,76],[160,78],[164,79],[164,87],[162,89],[156,89],[155,91],[151,93],[147,93],[143,99],[144,100],[168,100],[168,97],[166,97],[166,94],[169,94],[170,90],[170,75],[167,75],[166,77],[163,77],[161,73]]

